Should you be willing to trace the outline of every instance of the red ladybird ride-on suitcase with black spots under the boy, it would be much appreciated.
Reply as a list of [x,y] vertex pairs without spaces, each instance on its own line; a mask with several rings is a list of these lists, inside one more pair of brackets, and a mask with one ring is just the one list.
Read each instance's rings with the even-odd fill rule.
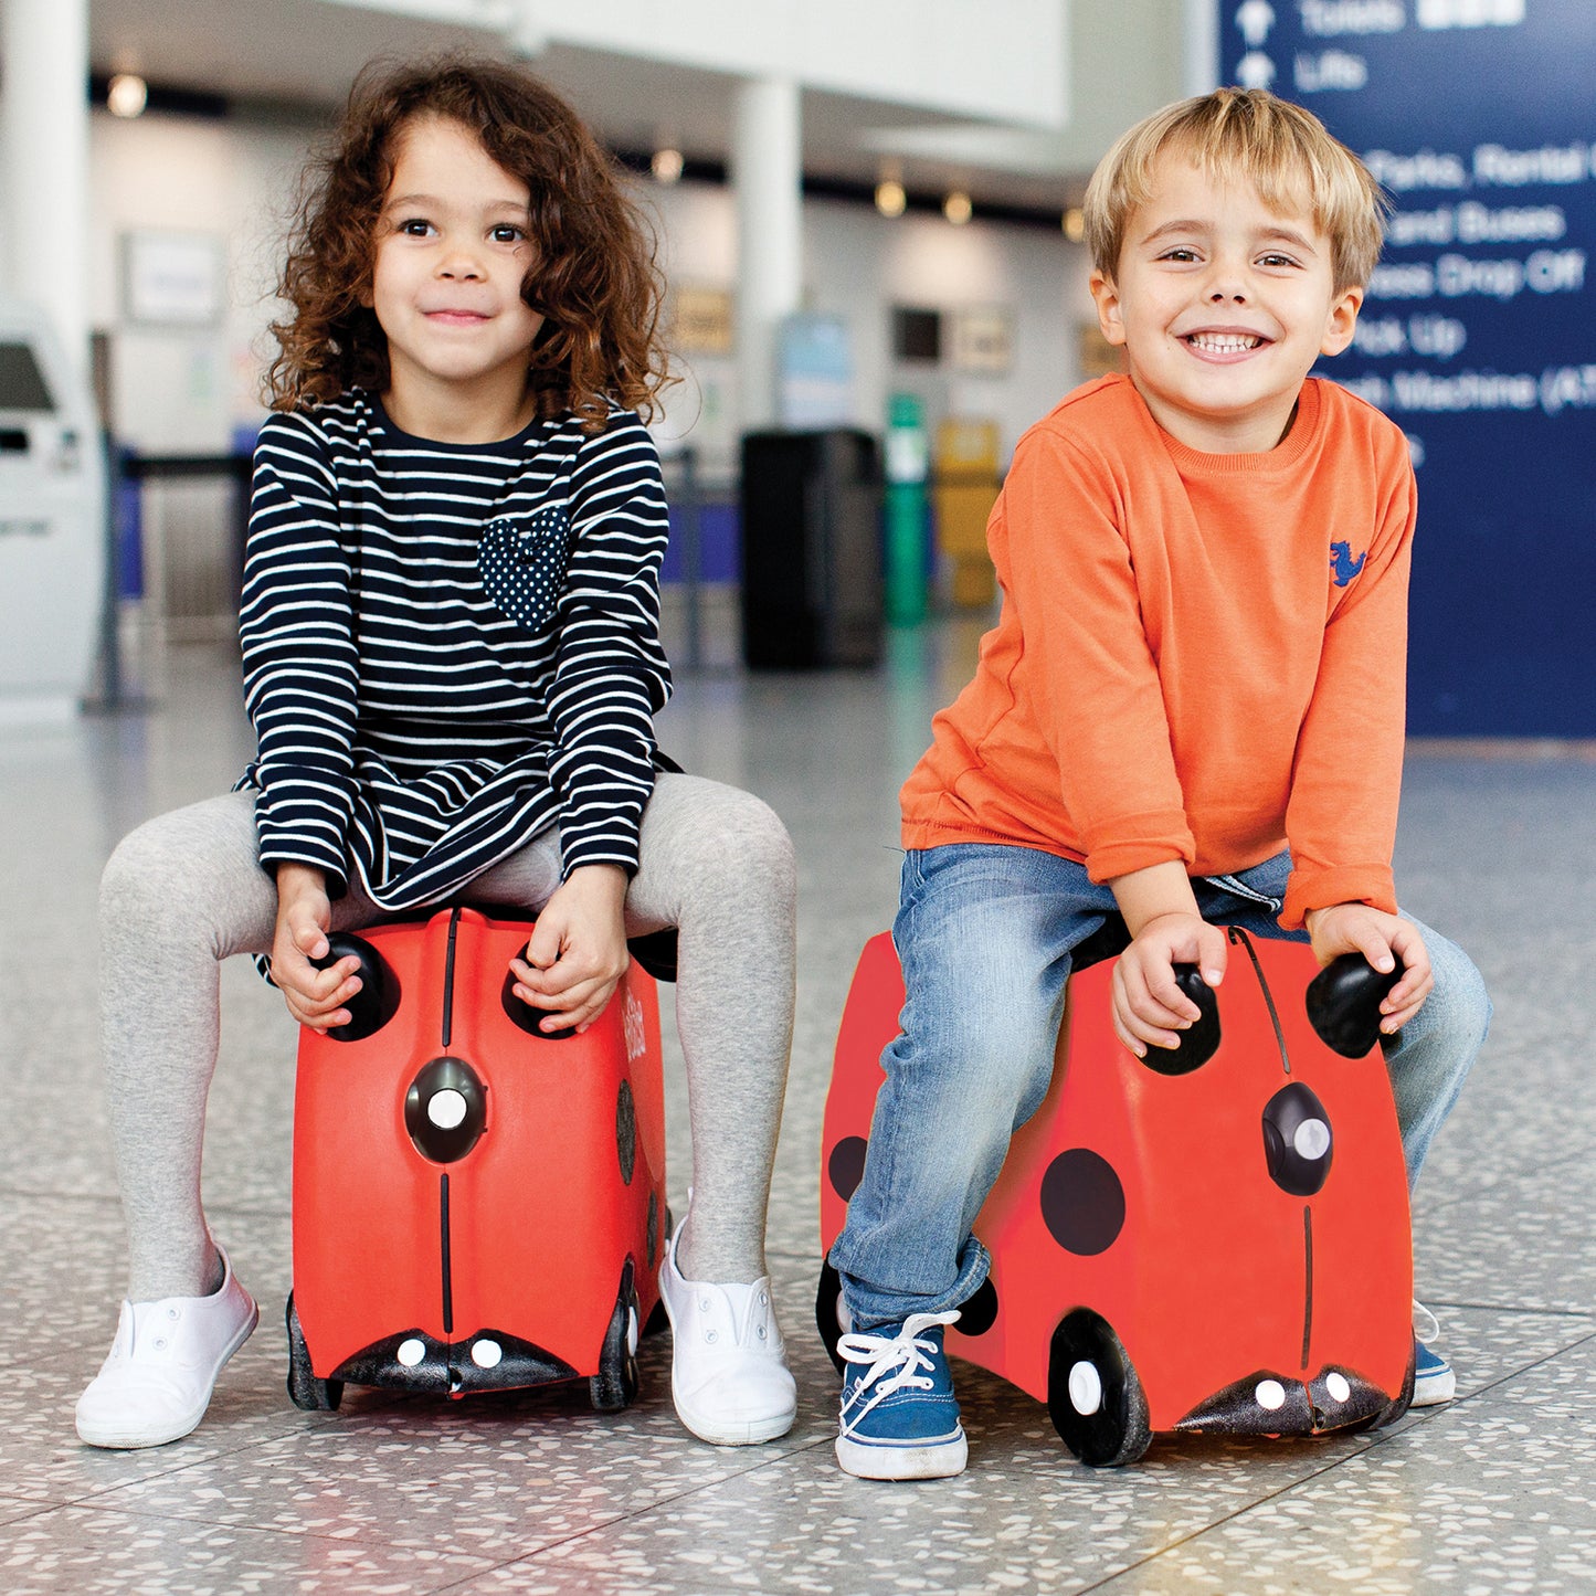
[[[1396,977],[1360,958],[1320,975],[1301,943],[1229,937],[1218,991],[1183,972],[1205,1018],[1146,1063],[1114,1036],[1112,961],[1076,970],[1052,1087],[975,1221],[991,1277],[946,1347],[1045,1401],[1087,1464],[1135,1462],[1154,1432],[1390,1424],[1412,1396],[1408,1183],[1376,1049]],[[875,937],[825,1108],[825,1250],[902,1005],[892,940]],[[825,1264],[833,1358],[838,1298]]]

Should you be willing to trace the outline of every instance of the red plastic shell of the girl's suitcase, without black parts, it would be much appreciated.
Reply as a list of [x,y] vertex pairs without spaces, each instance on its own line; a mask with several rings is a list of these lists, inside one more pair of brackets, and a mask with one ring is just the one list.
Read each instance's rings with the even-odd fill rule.
[[[485,1326],[594,1374],[627,1258],[640,1318],[658,1302],[666,1120],[654,983],[634,962],[581,1036],[530,1036],[501,1004],[530,934],[530,921],[474,910],[362,930],[397,983],[397,1012],[364,1041],[300,1033],[294,1302],[319,1377],[401,1331],[463,1345]],[[405,1095],[442,1057],[482,1080],[485,1125],[464,1157],[440,1163],[412,1140]],[[622,1084],[635,1125],[629,1181]]]

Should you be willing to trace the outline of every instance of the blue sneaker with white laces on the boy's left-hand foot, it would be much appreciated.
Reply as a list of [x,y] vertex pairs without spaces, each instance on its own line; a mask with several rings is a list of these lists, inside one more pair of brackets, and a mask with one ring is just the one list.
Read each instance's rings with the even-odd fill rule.
[[967,1448],[942,1331],[953,1314],[910,1314],[836,1344],[847,1360],[836,1460],[860,1479],[945,1479]]

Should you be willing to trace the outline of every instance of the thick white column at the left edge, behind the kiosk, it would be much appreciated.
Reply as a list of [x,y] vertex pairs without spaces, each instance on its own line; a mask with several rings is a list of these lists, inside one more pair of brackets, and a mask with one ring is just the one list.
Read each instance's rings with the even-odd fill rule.
[[3,0],[0,286],[89,367],[89,0]]

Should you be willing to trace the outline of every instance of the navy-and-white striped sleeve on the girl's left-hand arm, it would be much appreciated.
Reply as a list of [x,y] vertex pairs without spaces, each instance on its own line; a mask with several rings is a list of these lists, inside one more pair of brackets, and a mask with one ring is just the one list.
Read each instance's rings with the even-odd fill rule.
[[260,863],[346,881],[358,661],[337,485],[311,425],[271,417],[255,447],[238,634],[257,757]]

